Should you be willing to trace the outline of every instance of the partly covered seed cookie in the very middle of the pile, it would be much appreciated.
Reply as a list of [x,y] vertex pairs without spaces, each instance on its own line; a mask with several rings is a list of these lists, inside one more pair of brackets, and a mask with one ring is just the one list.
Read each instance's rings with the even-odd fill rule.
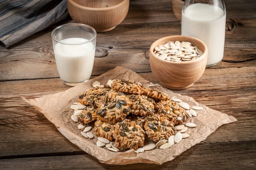
[[132,114],[140,116],[154,115],[154,99],[139,94],[128,94],[127,97],[131,101]]

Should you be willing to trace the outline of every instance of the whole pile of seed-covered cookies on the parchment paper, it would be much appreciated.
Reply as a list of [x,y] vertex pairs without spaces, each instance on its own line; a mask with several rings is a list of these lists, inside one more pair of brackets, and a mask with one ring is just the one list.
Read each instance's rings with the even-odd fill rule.
[[174,126],[185,124],[190,117],[166,93],[130,80],[87,90],[79,96],[79,103],[86,106],[77,116],[79,124],[95,121],[96,136],[115,140],[121,151],[143,147],[145,136],[154,142],[168,140],[175,135]]

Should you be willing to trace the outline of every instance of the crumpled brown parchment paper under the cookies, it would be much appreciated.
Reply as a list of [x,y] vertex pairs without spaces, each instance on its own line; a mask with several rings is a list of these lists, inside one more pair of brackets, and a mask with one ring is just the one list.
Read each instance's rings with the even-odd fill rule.
[[[70,88],[67,91],[49,94],[35,99],[23,99],[43,113],[44,116],[46,116],[47,119],[52,122],[67,139],[70,140],[70,142],[76,144],[82,150],[96,157],[100,162],[105,164],[163,164],[166,161],[171,161],[185,150],[206,139],[207,136],[221,125],[236,121],[236,118],[233,116],[228,116],[227,114],[212,110],[205,105],[196,102],[192,97],[181,96],[180,94],[175,94],[166,88],[162,88],[161,85],[156,85],[155,88],[166,92],[170,98],[181,99],[183,102],[187,102],[190,106],[200,106],[204,108],[202,111],[197,111],[197,117],[189,119],[189,122],[195,123],[197,127],[189,128],[186,132],[190,135],[189,138],[183,139],[180,143],[174,144],[168,149],[154,149],[145,151],[144,153],[136,153],[134,150],[117,153],[111,152],[106,147],[98,147],[96,145],[96,136],[92,140],[86,139],[81,135],[81,130],[78,129],[78,123],[73,122],[71,119],[73,110],[70,109],[70,105],[77,101],[79,94],[89,88],[92,88],[92,83],[94,81],[97,80],[101,84],[106,84],[109,79],[134,80],[136,82],[141,82],[144,87],[148,87],[148,85],[151,84],[134,71],[122,67],[116,67],[99,77],[90,79],[89,81]],[[145,144],[148,143],[154,142],[145,140]]]

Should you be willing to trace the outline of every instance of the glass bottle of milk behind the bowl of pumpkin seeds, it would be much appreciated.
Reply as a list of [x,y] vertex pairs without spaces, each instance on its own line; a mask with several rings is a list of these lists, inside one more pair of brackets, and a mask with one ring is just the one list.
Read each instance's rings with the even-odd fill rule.
[[221,62],[224,54],[226,9],[223,0],[185,0],[181,35],[198,38],[208,47],[207,67]]

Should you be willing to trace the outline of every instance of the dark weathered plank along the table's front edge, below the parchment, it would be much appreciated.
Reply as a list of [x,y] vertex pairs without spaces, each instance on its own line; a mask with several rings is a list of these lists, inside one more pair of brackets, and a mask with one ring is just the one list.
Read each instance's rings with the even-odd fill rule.
[[[238,149],[239,148],[239,149]],[[255,169],[256,142],[231,142],[222,144],[197,144],[162,165],[130,164],[108,165],[100,163],[90,155],[47,156],[19,159],[2,159],[2,170],[45,169],[93,169],[93,170],[191,170],[191,169]]]

